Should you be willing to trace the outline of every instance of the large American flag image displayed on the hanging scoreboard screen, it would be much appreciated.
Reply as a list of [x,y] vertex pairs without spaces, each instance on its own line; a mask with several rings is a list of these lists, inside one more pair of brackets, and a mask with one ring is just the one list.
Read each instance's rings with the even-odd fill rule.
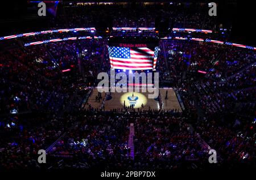
[[108,46],[112,68],[124,70],[151,70],[155,68],[158,47],[155,52],[149,48],[121,48]]

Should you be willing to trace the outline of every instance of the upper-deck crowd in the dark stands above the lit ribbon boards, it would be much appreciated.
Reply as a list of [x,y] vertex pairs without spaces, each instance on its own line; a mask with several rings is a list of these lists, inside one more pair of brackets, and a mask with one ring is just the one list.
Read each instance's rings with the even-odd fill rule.
[[160,16],[175,22],[178,28],[216,28],[216,18],[208,15],[208,4],[112,4],[64,6],[56,18],[52,19],[54,27],[94,27],[99,18],[110,18],[113,27],[155,27],[155,19]]

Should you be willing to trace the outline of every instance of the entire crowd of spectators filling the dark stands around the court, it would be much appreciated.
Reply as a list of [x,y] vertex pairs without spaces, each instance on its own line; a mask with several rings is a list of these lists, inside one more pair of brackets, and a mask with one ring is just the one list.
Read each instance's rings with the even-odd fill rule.
[[[116,27],[154,27],[156,15],[162,15],[175,18],[177,27],[214,28],[203,5],[199,11],[190,6],[65,7],[54,23],[94,26],[101,11],[110,12]],[[90,39],[0,52],[0,169],[205,169],[212,166],[209,147],[220,152],[217,166],[255,166],[253,50],[161,40],[156,71],[160,82],[177,89],[182,113],[81,109],[98,72],[110,70],[106,45],[105,39]],[[134,156],[128,145],[131,123]],[[51,144],[48,164],[38,164],[38,150]]]

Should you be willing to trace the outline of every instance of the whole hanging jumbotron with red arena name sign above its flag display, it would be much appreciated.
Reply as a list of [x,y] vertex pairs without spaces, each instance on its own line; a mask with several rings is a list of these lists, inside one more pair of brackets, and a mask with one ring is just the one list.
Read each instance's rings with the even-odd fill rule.
[[150,40],[109,42],[109,61],[114,69],[154,70],[159,46]]

